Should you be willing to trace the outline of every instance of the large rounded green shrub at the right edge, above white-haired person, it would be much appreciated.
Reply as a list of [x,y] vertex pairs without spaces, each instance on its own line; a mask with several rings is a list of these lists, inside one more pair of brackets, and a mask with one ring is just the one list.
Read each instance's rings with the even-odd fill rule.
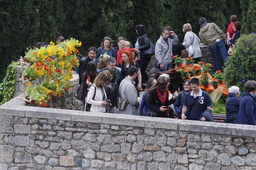
[[247,80],[256,80],[256,36],[241,35],[233,46],[232,56],[228,57],[224,68],[224,81],[227,88],[238,86],[244,91]]

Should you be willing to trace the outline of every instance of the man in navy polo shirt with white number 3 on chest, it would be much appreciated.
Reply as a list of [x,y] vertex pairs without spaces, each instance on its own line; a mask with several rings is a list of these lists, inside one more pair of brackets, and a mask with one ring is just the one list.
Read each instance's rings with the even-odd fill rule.
[[[212,102],[210,95],[199,88],[199,80],[197,78],[191,79],[190,84],[192,91],[186,94],[181,119],[186,119],[188,116],[188,120],[199,120],[205,110],[212,110]],[[188,110],[192,107],[194,100],[195,105],[189,114]],[[205,117],[202,117],[201,121],[206,121]]]

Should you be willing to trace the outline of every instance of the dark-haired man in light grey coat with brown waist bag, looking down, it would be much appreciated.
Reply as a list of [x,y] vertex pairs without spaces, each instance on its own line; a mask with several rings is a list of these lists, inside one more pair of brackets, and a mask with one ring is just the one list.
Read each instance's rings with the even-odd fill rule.
[[138,75],[138,68],[131,66],[128,70],[128,76],[123,79],[119,86],[119,102],[123,99],[127,102],[124,110],[118,108],[118,114],[138,115],[140,102],[138,100],[137,89],[134,80]]

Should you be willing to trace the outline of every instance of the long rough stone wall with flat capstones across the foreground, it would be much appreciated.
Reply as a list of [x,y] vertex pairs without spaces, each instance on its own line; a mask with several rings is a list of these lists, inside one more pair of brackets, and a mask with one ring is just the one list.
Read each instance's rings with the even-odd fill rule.
[[0,169],[256,169],[255,126],[0,106]]

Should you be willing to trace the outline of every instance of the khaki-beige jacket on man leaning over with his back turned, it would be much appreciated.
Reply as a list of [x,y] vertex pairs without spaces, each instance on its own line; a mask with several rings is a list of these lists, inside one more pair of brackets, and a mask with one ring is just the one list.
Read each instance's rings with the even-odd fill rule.
[[204,45],[209,45],[210,47],[216,43],[218,38],[226,42],[225,34],[215,23],[208,23],[202,27],[199,32],[199,37]]

